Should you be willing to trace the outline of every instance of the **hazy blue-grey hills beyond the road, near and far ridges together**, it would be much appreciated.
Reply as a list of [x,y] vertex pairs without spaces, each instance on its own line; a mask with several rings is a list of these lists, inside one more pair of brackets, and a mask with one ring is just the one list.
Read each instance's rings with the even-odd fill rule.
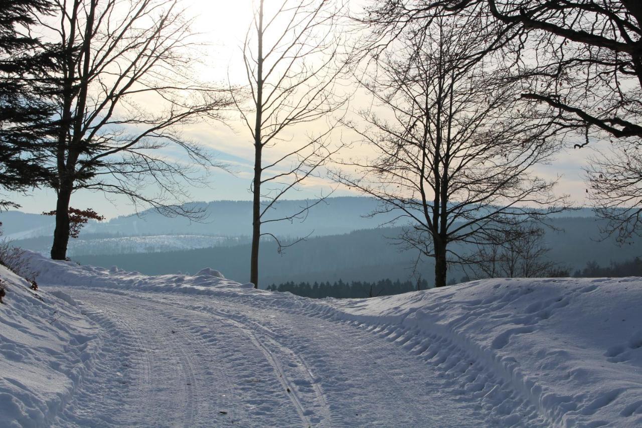
[[[305,201],[284,201],[275,215],[295,210]],[[71,240],[73,260],[80,263],[164,274],[177,271],[196,272],[202,267],[220,269],[227,278],[248,281],[251,204],[247,201],[197,202],[209,213],[207,222],[189,222],[185,218],[167,218],[147,212],[143,217],[117,217],[102,224],[92,223],[83,229],[78,240]],[[412,275],[416,253],[401,252],[394,244],[399,227],[377,227],[392,218],[364,217],[377,206],[372,199],[359,197],[331,198],[309,213],[305,222],[275,224],[273,233],[306,236],[308,240],[277,252],[277,245],[266,240],[261,245],[263,284],[285,281],[378,281],[383,278],[405,281]],[[642,245],[618,246],[614,240],[600,240],[598,220],[584,208],[569,211],[569,216],[555,217],[544,245],[546,255],[559,267],[574,272],[587,262],[600,265],[621,262],[642,254]],[[5,235],[16,245],[47,253],[51,245],[51,218],[17,211],[0,214]],[[34,237],[25,238],[32,234]],[[418,272],[432,278],[433,264],[424,260]],[[453,265],[450,281],[458,281],[465,272]]]

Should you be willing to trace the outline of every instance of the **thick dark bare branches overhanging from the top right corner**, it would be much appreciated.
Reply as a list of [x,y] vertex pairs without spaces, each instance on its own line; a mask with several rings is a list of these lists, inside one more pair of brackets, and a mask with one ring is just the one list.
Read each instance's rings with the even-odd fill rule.
[[519,40],[510,47],[520,50],[516,65],[529,78],[523,98],[568,113],[563,119],[569,127],[588,124],[617,138],[642,137],[637,0],[383,0],[370,13],[388,32],[439,16],[492,17],[503,29],[483,46]]

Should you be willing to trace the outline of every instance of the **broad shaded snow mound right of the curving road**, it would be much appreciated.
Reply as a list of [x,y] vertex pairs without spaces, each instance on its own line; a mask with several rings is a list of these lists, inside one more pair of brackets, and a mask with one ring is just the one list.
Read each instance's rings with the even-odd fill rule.
[[446,338],[551,425],[642,426],[640,278],[483,280],[333,305],[405,335]]

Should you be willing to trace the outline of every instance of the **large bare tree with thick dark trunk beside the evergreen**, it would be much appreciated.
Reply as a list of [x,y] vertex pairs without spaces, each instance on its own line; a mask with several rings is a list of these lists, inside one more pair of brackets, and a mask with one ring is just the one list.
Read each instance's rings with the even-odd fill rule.
[[[194,214],[180,206],[182,184],[198,183],[202,168],[214,164],[179,127],[200,116],[220,118],[230,101],[186,78],[193,45],[177,1],[57,0],[56,6],[55,19],[42,24],[65,53],[52,80],[61,95],[50,157],[58,198],[51,257],[64,259],[69,201],[78,189],[126,195],[169,215]],[[183,154],[172,159],[161,150],[168,145]]]

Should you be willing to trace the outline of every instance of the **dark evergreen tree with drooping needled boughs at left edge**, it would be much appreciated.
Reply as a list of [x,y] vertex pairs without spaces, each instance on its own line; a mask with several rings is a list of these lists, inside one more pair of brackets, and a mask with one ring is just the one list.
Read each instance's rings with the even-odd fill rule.
[[[0,187],[24,191],[51,177],[42,162],[51,134],[53,95],[46,85],[60,57],[30,33],[49,0],[0,0]],[[18,205],[0,201],[0,209]]]

